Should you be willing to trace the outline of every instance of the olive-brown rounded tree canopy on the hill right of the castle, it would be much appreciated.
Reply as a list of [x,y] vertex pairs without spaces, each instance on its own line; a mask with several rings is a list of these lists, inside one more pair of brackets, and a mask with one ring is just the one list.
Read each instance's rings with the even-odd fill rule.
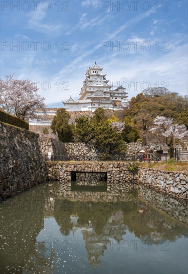
[[183,115],[184,112],[187,113],[187,109],[188,100],[178,93],[162,88],[151,88],[130,100],[125,117],[132,118],[141,137],[145,134],[149,135],[149,129],[157,116],[173,118],[178,123],[184,122],[183,124],[187,125],[187,119]]

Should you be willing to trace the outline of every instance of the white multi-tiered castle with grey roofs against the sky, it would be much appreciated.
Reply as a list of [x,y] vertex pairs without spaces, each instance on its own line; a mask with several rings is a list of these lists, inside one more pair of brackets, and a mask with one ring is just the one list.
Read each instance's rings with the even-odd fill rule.
[[86,72],[78,101],[70,98],[63,102],[67,111],[95,111],[101,107],[110,110],[121,110],[128,105],[127,93],[122,86],[111,90],[112,86],[106,80],[106,74],[102,73],[103,68],[96,62]]

